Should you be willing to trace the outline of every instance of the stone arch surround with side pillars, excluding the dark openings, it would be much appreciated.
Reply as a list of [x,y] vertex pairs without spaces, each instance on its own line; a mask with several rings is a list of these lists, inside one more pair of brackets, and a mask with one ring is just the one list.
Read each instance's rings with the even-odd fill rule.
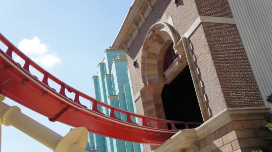
[[[203,112],[202,117],[204,120],[207,120],[208,118],[205,116],[207,112],[204,112],[206,110],[201,108],[203,107],[201,105],[205,104],[205,102],[202,102],[204,94],[199,91],[198,77],[194,75],[195,68],[193,63],[191,63],[194,56],[192,56],[192,52],[185,51],[185,47],[188,47],[188,42],[186,42],[188,39],[184,37],[179,38],[180,36],[175,28],[165,22],[154,24],[147,32],[141,56],[143,87],[140,90],[140,94],[144,114],[151,117],[166,118],[161,97],[163,88],[165,84],[170,83],[177,77],[186,66],[189,66],[193,79],[193,87],[196,90],[201,113]],[[179,54],[180,58],[175,59],[171,66],[164,72],[164,56],[171,43],[173,43],[175,53]],[[190,65],[188,62],[190,62]],[[151,126],[156,126],[156,123],[149,123]]]

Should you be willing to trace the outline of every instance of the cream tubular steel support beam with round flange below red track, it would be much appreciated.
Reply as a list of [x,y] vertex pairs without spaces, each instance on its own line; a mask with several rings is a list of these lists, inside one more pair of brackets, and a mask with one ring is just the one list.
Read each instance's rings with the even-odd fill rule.
[[41,123],[21,113],[19,107],[8,106],[0,94],[0,119],[5,126],[14,126],[34,138],[54,152],[88,152],[88,130],[85,127],[73,129],[64,137],[45,127]]

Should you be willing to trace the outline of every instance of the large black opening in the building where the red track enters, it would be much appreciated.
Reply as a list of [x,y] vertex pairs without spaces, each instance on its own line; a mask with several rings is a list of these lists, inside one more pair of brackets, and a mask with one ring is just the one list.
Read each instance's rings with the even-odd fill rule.
[[[189,67],[170,83],[163,87],[161,93],[166,119],[187,122],[203,122],[192,76]],[[184,125],[176,125],[178,129],[184,129]],[[194,126],[189,126],[195,128]],[[168,124],[171,129],[171,124]]]

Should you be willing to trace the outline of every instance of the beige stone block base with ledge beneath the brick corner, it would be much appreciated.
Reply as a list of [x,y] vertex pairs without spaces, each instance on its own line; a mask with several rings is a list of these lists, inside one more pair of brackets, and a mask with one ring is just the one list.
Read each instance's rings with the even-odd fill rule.
[[269,134],[258,129],[266,124],[268,107],[228,108],[195,129],[181,130],[155,152],[251,152],[266,146]]

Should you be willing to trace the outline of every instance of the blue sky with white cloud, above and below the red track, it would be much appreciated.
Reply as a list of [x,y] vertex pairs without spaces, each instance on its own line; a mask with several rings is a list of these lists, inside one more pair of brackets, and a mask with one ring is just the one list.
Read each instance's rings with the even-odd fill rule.
[[[91,77],[116,37],[133,0],[0,0],[0,33],[68,85],[93,96]],[[0,45],[1,46],[1,45]],[[48,62],[50,61],[50,62]],[[70,126],[22,113],[64,136]],[[52,152],[14,127],[2,125],[1,152]]]

